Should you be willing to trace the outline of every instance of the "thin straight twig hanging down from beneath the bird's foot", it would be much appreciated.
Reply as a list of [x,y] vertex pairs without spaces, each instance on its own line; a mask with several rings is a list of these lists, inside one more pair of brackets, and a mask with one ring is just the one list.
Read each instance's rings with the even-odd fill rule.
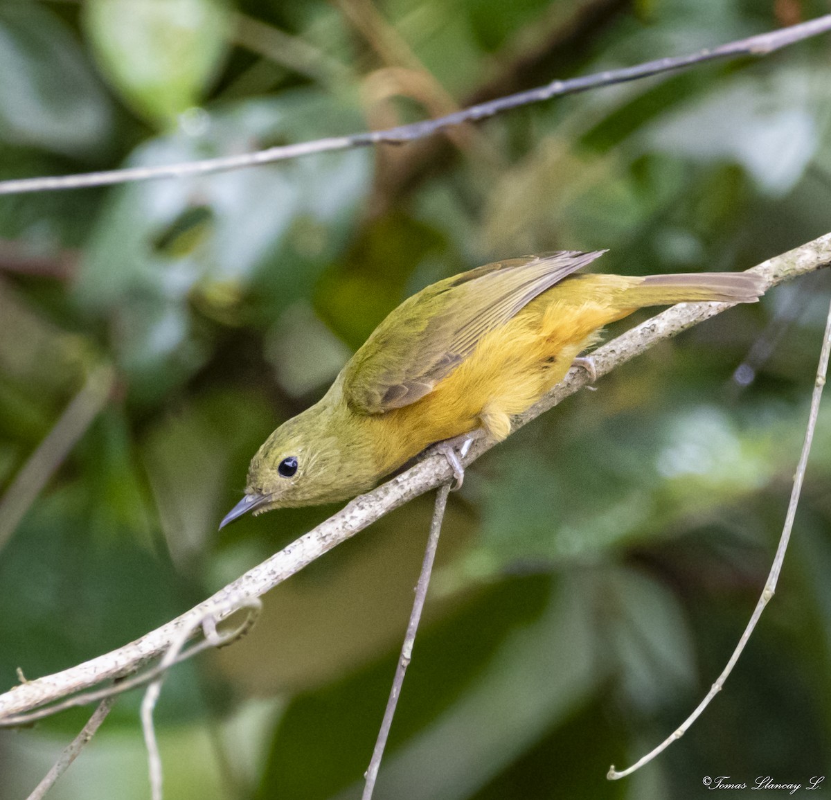
[[381,720],[381,729],[378,731],[375,749],[372,751],[369,768],[367,768],[364,775],[366,783],[364,783],[361,800],[372,800],[372,792],[375,789],[376,778],[378,778],[378,768],[381,767],[381,758],[384,757],[386,738],[390,735],[392,718],[396,714],[396,706],[398,705],[398,698],[401,695],[401,687],[404,685],[404,674],[406,673],[407,667],[410,665],[410,660],[413,654],[413,644],[416,644],[416,631],[418,630],[419,621],[421,620],[421,610],[424,608],[424,601],[427,598],[427,589],[430,586],[430,575],[433,571],[435,551],[439,546],[441,522],[445,518],[445,508],[447,507],[447,495],[449,492],[450,482],[447,482],[440,486],[439,491],[435,494],[433,521],[430,523],[430,536],[427,539],[427,548],[424,552],[424,563],[421,565],[421,574],[419,575],[418,585],[416,585],[416,598],[413,600],[413,609],[410,612],[410,621],[407,623],[407,633],[404,637],[404,644],[401,647],[401,657],[398,659],[396,676],[392,679],[390,699],[386,701],[384,719]]

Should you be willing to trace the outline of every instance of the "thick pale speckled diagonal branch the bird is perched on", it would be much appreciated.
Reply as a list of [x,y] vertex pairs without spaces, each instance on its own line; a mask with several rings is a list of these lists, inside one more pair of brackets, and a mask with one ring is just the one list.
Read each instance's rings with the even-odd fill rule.
[[[831,265],[831,234],[775,256],[752,269],[765,278],[767,288],[794,279],[799,275],[814,272]],[[715,314],[730,308],[730,304],[693,303],[679,304],[638,325],[593,353],[597,376],[605,375],[613,368],[626,363],[645,352],[658,342],[675,336],[676,333],[710,319]],[[557,405],[569,395],[588,383],[588,375],[582,368],[573,369],[565,380],[548,393],[529,411],[514,419],[514,430],[522,427],[548,408]],[[489,442],[479,440],[471,447],[465,458],[470,463],[493,447]],[[185,614],[171,620],[140,639],[125,644],[111,653],[77,664],[63,672],[27,681],[14,689],[0,694],[0,724],[13,714],[37,709],[57,699],[75,694],[82,689],[100,684],[102,681],[120,678],[135,671],[149,659],[159,657],[170,648],[171,642],[186,628],[195,627],[194,620],[204,618],[206,608],[223,605],[231,599],[263,595],[274,586],[332,547],[346,541],[372,522],[402,506],[425,491],[449,480],[450,466],[441,455],[425,458],[415,467],[394,477],[365,495],[356,497],[342,511],[301,536],[297,541],[275,553],[262,564],[248,570],[244,575],[219,590],[209,600],[197,605]],[[218,615],[220,618],[223,615]],[[198,625],[198,622],[197,622]]]

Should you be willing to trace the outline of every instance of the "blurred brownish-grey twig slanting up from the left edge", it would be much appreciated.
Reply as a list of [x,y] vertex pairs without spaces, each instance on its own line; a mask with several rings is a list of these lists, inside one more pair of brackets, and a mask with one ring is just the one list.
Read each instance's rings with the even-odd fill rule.
[[110,397],[115,373],[109,364],[94,369],[47,437],[21,467],[0,498],[0,550],[32,506],[52,472],[66,458]]

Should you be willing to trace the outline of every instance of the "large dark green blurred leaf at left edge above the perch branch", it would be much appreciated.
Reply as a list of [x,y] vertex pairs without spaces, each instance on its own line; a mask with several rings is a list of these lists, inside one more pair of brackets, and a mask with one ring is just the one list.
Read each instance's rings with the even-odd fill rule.
[[41,497],[7,543],[0,560],[3,687],[17,682],[18,666],[27,678],[66,669],[183,610],[169,565],[132,531],[112,526],[106,538],[90,535],[102,499],[117,498],[98,496],[95,480],[67,484]]

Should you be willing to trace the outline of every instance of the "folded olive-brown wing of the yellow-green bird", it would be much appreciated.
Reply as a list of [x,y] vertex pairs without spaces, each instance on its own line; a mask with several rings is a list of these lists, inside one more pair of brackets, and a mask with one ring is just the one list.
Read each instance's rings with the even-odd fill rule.
[[486,264],[406,299],[344,368],[353,411],[381,414],[430,393],[472,353],[485,333],[605,250],[564,250]]

